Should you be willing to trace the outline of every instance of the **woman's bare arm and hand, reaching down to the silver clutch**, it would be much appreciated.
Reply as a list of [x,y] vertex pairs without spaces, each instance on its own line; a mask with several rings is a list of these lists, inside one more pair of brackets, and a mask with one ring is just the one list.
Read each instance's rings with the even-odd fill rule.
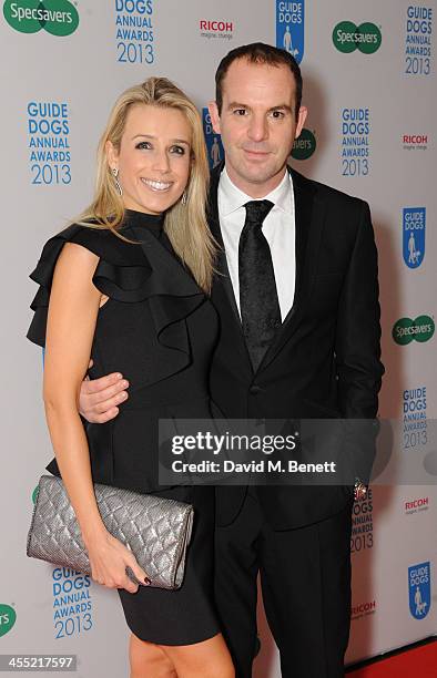
[[92,576],[110,587],[135,592],[129,565],[142,581],[145,573],[132,553],[106,531],[95,502],[90,453],[79,415],[79,393],[87,372],[101,294],[92,284],[99,258],[68,243],[58,259],[47,326],[45,415],[57,462],[90,555]]

